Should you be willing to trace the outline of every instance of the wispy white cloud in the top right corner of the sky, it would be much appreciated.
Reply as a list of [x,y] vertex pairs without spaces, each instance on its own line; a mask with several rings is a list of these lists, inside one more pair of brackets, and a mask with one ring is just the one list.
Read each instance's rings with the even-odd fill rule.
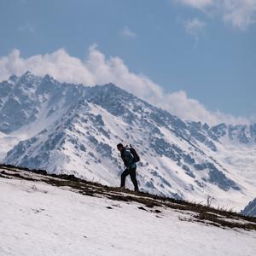
[[256,22],[256,0],[173,0],[202,11],[214,11],[238,29]]

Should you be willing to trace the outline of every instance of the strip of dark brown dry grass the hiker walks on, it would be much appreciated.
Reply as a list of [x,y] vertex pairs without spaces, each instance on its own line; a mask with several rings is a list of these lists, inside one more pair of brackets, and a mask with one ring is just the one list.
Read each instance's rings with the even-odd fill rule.
[[[256,230],[255,217],[243,216],[231,210],[227,211],[220,208],[213,208],[209,205],[204,206],[194,202],[179,201],[160,195],[151,195],[143,192],[133,192],[128,189],[124,190],[114,187],[103,186],[100,183],[89,182],[73,175],[48,174],[44,170],[29,170],[27,168],[9,165],[0,165],[0,168],[6,170],[0,172],[0,177],[14,177],[35,182],[38,182],[38,177],[41,177],[39,178],[39,180],[44,183],[49,183],[57,187],[68,186],[72,189],[75,189],[75,191],[77,191],[81,195],[101,197],[104,196],[113,201],[135,201],[142,204],[144,207],[150,208],[151,212],[159,211],[152,210],[154,207],[166,207],[178,211],[194,212],[193,215],[191,215],[193,218],[183,218],[181,220],[197,221],[222,228]],[[32,172],[36,174],[37,179],[32,178]],[[144,207],[143,210],[147,211],[147,209],[145,209]]]

